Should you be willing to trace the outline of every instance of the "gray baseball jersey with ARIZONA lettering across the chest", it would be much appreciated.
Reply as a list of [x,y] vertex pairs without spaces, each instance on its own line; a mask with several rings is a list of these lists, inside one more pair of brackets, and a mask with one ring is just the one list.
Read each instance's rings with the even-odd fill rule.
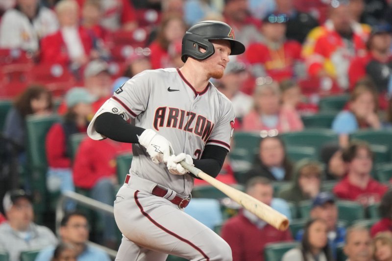
[[[103,138],[94,122],[104,112],[133,118],[136,126],[155,130],[172,143],[174,154],[200,158],[208,144],[230,150],[235,118],[231,102],[211,82],[197,93],[175,68],[147,70],[124,83],[94,116],[87,130],[92,139]],[[165,163],[153,163],[139,144],[134,144],[133,155],[132,174],[178,194],[191,193],[190,175],[172,175]]]

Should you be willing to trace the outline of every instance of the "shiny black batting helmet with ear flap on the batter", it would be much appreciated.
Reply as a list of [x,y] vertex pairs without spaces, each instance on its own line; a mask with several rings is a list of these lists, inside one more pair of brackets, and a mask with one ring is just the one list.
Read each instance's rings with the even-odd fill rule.
[[[234,40],[234,30],[226,23],[219,21],[203,21],[189,28],[182,38],[181,60],[193,57],[204,60],[214,54],[214,46],[209,40],[223,39],[230,41],[231,55],[245,52],[245,46]],[[206,50],[200,52],[199,47]]]

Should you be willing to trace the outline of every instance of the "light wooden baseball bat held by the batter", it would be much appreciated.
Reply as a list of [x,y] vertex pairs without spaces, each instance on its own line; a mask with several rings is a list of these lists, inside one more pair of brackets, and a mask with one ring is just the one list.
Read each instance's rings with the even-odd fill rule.
[[234,187],[214,179],[210,175],[202,172],[200,169],[186,163],[185,161],[181,161],[180,164],[196,177],[205,180],[206,182],[221,190],[229,198],[240,204],[244,209],[247,209],[248,211],[258,216],[260,219],[263,219],[272,227],[280,231],[285,231],[289,228],[289,220],[287,217],[275,209],[272,209],[267,204],[264,204],[263,202]]

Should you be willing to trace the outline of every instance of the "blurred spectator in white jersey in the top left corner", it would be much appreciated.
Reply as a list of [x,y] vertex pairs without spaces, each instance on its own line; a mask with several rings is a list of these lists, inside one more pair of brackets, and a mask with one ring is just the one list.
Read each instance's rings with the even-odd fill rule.
[[54,12],[39,5],[39,0],[17,0],[15,8],[1,17],[0,48],[21,48],[38,52],[39,41],[58,29]]

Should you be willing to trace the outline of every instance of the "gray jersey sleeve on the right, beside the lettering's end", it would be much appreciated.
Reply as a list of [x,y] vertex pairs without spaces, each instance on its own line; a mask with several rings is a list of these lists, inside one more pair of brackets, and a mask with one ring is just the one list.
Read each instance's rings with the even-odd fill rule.
[[211,136],[208,138],[206,145],[218,145],[230,151],[230,140],[234,130],[235,113],[233,105],[227,101],[221,118],[217,121]]

